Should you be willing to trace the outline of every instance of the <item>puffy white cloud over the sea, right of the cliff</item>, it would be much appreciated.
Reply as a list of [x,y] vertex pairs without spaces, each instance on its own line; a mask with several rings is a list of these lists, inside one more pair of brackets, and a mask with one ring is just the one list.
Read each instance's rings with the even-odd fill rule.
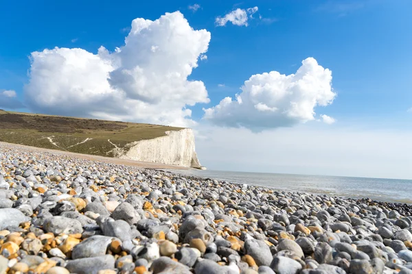
[[204,109],[203,119],[253,131],[289,127],[314,120],[314,108],[329,105],[336,97],[332,71],[314,58],[302,61],[295,74],[271,71],[252,75],[241,90],[234,100],[226,97],[218,105]]

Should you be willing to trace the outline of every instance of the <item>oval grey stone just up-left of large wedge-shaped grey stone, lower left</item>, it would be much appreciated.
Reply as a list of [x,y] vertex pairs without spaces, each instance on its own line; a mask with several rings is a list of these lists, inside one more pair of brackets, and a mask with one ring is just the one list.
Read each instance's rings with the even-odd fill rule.
[[45,229],[46,232],[52,232],[54,235],[83,232],[82,224],[79,221],[62,216],[53,216],[46,219],[43,223],[43,229]]

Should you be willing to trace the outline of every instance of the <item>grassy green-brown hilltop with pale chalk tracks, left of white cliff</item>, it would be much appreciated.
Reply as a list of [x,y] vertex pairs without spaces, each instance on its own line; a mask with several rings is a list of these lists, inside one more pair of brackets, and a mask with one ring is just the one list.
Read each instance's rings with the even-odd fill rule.
[[116,151],[131,142],[180,129],[0,110],[0,141],[106,157],[115,157]]

